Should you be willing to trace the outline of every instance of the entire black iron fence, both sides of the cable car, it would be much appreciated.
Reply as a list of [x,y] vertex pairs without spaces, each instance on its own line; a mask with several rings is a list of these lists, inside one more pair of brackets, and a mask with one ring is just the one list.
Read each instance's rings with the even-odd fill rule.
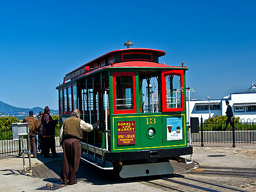
[[[256,119],[242,120],[233,122],[234,129],[229,125],[226,129],[225,122],[203,123],[199,124],[199,133],[191,134],[192,143],[212,144],[256,144]],[[56,126],[55,141],[56,147],[60,147],[58,134],[60,126]],[[24,137],[25,138],[25,137]],[[188,142],[189,142],[188,135]],[[26,148],[26,142],[25,142]],[[0,156],[9,154],[19,154],[21,152],[21,141],[12,140],[12,127],[2,127],[0,129]]]

